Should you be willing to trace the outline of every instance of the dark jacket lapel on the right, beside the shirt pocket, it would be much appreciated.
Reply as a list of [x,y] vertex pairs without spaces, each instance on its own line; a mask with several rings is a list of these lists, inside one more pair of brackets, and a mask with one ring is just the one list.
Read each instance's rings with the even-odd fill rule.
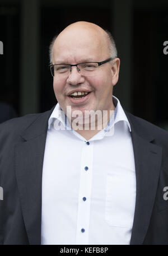
[[130,239],[130,244],[133,245],[143,244],[150,224],[161,169],[162,148],[152,143],[155,137],[150,133],[150,127],[141,127],[141,122],[138,125],[136,118],[130,118],[128,113],[125,114],[132,129],[137,182],[136,208]]

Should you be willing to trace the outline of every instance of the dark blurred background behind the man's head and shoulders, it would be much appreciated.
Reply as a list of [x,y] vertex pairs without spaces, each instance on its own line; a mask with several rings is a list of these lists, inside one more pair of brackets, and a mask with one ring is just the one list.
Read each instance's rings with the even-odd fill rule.
[[168,130],[167,0],[0,0],[0,100],[18,116],[52,108],[49,44],[81,20],[114,36],[121,59],[114,95],[122,106]]

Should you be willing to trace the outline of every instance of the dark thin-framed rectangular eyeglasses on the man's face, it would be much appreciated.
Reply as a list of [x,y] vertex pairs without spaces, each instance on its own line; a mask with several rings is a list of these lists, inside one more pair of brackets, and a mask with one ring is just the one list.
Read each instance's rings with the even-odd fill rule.
[[72,67],[76,66],[77,71],[83,76],[91,76],[95,75],[95,71],[97,68],[102,64],[105,64],[113,60],[113,58],[106,59],[102,62],[83,62],[78,64],[51,64],[50,71],[52,76],[68,76],[69,73],[72,71]]

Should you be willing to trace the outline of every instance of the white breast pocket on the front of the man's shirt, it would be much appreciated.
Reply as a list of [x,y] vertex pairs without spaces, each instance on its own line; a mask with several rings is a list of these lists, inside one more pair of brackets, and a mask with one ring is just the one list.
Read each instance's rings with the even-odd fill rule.
[[[125,172],[125,173],[124,173]],[[116,170],[106,176],[105,221],[111,227],[132,228],[136,203],[136,175]]]

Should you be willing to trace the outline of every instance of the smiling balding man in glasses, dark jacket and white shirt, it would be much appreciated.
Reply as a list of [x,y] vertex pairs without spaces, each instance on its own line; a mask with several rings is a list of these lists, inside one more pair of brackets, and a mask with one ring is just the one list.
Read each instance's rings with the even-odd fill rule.
[[1,243],[168,244],[168,134],[113,96],[113,38],[76,22],[50,60],[58,104],[0,125]]

